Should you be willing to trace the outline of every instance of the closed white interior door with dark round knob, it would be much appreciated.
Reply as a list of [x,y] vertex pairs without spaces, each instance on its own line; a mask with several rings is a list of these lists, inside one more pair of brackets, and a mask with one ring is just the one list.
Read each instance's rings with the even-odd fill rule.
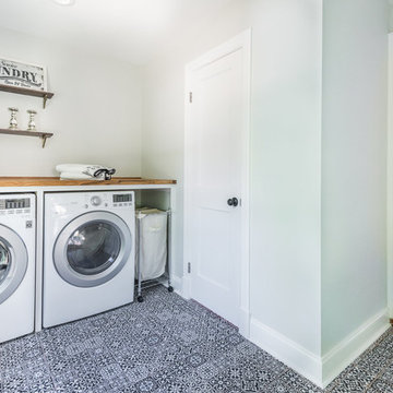
[[248,75],[225,48],[188,70],[184,235],[190,296],[239,326]]

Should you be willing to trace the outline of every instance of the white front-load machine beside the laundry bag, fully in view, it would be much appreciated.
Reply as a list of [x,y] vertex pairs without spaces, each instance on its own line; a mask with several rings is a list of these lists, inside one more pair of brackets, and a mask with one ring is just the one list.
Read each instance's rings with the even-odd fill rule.
[[133,191],[45,194],[43,325],[133,301]]

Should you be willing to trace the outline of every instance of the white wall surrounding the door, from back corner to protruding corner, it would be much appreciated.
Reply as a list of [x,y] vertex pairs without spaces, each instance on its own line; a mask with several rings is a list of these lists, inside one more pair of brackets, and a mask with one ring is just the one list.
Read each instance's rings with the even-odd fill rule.
[[317,355],[321,11],[314,0],[236,0],[195,32],[184,32],[176,52],[163,53],[144,70],[142,143],[143,176],[179,180],[179,225],[184,64],[251,26],[251,312]]

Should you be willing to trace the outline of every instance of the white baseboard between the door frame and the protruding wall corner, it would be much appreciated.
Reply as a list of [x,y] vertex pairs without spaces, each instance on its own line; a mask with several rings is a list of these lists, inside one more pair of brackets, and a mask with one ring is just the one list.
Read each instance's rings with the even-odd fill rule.
[[252,317],[250,341],[315,385],[322,386],[321,358]]

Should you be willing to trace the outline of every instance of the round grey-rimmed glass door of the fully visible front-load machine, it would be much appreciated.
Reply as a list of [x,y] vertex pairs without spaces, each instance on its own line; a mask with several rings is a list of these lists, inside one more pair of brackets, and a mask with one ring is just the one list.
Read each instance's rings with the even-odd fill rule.
[[131,253],[131,242],[129,227],[116,214],[83,214],[70,222],[56,240],[56,270],[72,285],[102,285],[124,266]]

